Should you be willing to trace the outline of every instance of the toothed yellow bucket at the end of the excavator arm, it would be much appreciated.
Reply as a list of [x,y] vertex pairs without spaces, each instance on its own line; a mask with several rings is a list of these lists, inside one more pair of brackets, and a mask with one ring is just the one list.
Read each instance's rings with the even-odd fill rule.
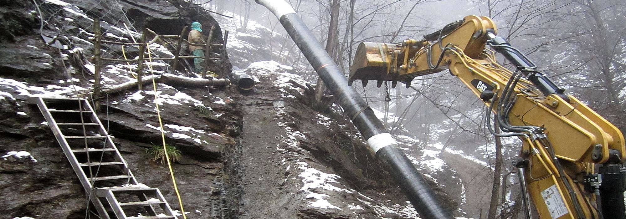
[[352,86],[354,80],[361,79],[363,86],[366,86],[367,81],[374,80],[380,87],[382,81],[393,81],[393,76],[389,74],[392,68],[389,53],[395,48],[396,44],[391,43],[360,43],[356,49],[348,84]]

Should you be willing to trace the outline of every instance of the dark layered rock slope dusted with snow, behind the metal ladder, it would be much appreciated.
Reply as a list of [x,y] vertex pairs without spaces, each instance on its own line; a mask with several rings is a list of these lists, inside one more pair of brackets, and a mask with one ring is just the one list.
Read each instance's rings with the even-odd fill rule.
[[[180,34],[191,21],[215,24],[216,33],[220,28],[204,9],[186,1],[35,2],[0,1],[0,19],[7,21],[0,24],[0,155],[29,151],[37,160],[0,160],[0,212],[9,218],[85,218],[93,210],[86,192],[39,110],[21,95],[90,96],[93,18],[101,18],[108,40],[126,42],[140,35],[132,29],[145,26],[158,34]],[[126,30],[124,23],[135,26]],[[39,33],[56,36],[60,48],[47,46]],[[216,34],[213,41],[221,39]],[[151,44],[153,55],[170,56],[167,43]],[[120,58],[121,51],[103,48],[108,57]],[[138,50],[124,51],[133,57]],[[150,66],[155,74],[171,71],[165,62]],[[103,64],[103,88],[135,80],[136,68]],[[230,63],[210,68],[228,74]],[[188,218],[417,218],[341,108],[312,110],[312,84],[292,70],[274,61],[253,63],[245,70],[258,79],[250,91],[150,84],[143,91],[105,96],[98,117],[138,181],[160,188],[180,210],[167,165],[146,153],[161,142],[158,104],[165,141],[182,152],[173,170]],[[408,142],[401,146],[420,153]],[[454,177],[446,170],[426,173],[438,181]],[[437,191],[456,210],[458,200],[445,193],[460,188]]]

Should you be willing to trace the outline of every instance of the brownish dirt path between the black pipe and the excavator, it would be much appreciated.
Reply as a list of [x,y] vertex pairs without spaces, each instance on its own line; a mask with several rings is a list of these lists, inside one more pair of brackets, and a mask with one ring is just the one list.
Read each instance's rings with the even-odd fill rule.
[[460,208],[468,213],[468,218],[481,218],[481,215],[486,218],[491,198],[492,170],[453,153],[444,152],[441,156],[463,181],[466,202]]

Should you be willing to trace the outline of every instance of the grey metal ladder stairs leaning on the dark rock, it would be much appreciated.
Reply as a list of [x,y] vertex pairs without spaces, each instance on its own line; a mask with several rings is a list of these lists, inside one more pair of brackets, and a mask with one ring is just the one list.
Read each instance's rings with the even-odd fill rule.
[[158,188],[137,183],[86,99],[29,97],[28,103],[43,113],[101,218],[177,218]]

